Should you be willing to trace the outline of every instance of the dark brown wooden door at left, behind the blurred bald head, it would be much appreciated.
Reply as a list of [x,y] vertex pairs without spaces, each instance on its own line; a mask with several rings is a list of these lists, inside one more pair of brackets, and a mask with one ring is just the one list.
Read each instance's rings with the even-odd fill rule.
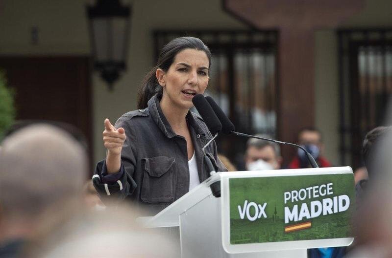
[[64,122],[80,129],[92,160],[88,57],[0,57],[0,70],[15,91],[17,120]]

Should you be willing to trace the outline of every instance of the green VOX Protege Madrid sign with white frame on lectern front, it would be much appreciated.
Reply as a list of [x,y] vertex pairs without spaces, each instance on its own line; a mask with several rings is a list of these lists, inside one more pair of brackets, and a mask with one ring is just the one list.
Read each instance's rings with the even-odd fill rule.
[[254,177],[246,173],[222,181],[225,249],[248,248],[249,244],[263,250],[298,249],[352,241],[355,194],[351,169],[297,172]]

